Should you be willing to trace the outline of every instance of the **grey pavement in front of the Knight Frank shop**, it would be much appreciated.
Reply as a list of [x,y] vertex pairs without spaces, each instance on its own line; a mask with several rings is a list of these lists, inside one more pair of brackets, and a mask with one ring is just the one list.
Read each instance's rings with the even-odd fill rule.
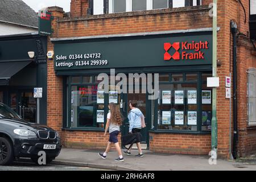
[[98,156],[102,150],[82,150],[63,148],[53,164],[102,168],[121,171],[255,171],[256,162],[243,160],[217,159],[217,164],[210,165],[207,155],[157,154],[143,150],[144,157],[138,158],[138,150],[131,155],[123,154],[125,161],[116,162],[116,151],[110,151],[106,159]]

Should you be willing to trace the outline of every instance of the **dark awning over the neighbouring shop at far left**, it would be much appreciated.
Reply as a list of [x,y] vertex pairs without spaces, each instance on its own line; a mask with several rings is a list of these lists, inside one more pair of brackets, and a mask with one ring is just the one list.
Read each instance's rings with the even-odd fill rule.
[[0,85],[8,85],[10,78],[30,63],[31,61],[0,62]]

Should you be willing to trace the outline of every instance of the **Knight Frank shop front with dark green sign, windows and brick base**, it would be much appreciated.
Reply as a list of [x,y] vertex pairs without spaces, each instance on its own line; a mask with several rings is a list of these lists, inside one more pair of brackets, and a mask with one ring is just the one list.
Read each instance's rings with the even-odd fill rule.
[[[211,31],[53,38],[51,41],[55,74],[63,77],[66,146],[105,147],[102,132],[109,102],[119,105],[125,118],[121,131],[127,134],[128,103],[135,100],[146,117],[147,127],[142,130],[144,147],[180,154],[210,151],[212,90],[207,88],[207,77],[212,77]],[[133,92],[130,89],[119,93],[114,88],[120,80],[113,83],[110,77],[110,92],[100,91],[98,84],[102,80],[97,80],[97,76],[100,73],[110,76],[110,69],[114,69],[114,76],[123,73],[122,79],[126,76],[127,82],[131,73],[147,76],[147,80],[152,75],[150,84],[154,92],[148,90],[148,82],[142,78],[133,80]],[[159,87],[155,84],[158,78],[155,73],[159,74]],[[154,94],[158,97],[151,100]],[[73,131],[81,135],[88,133],[92,138],[72,141],[72,137],[67,136],[72,136]]]

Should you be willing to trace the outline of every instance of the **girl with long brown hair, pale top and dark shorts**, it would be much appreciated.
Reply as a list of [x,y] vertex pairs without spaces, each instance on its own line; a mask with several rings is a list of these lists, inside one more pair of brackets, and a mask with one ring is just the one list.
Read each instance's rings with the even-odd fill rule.
[[115,150],[117,150],[119,157],[115,159],[115,161],[123,161],[122,151],[118,143],[118,134],[120,131],[120,125],[122,123],[122,115],[120,113],[119,108],[112,102],[109,104],[109,110],[110,113],[107,115],[107,122],[106,122],[106,128],[104,136],[106,136],[106,133],[109,128],[109,141],[108,146],[106,147],[106,150],[104,153],[99,152],[98,155],[101,156],[102,159],[106,159],[106,155],[108,154],[112,143],[115,145]]

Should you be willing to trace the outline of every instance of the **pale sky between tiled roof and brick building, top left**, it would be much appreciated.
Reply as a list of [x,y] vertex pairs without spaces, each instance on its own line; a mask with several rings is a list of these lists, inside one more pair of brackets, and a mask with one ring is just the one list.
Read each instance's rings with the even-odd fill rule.
[[38,12],[38,10],[43,7],[49,6],[59,6],[62,7],[65,12],[70,11],[70,2],[71,0],[22,0],[33,10]]

